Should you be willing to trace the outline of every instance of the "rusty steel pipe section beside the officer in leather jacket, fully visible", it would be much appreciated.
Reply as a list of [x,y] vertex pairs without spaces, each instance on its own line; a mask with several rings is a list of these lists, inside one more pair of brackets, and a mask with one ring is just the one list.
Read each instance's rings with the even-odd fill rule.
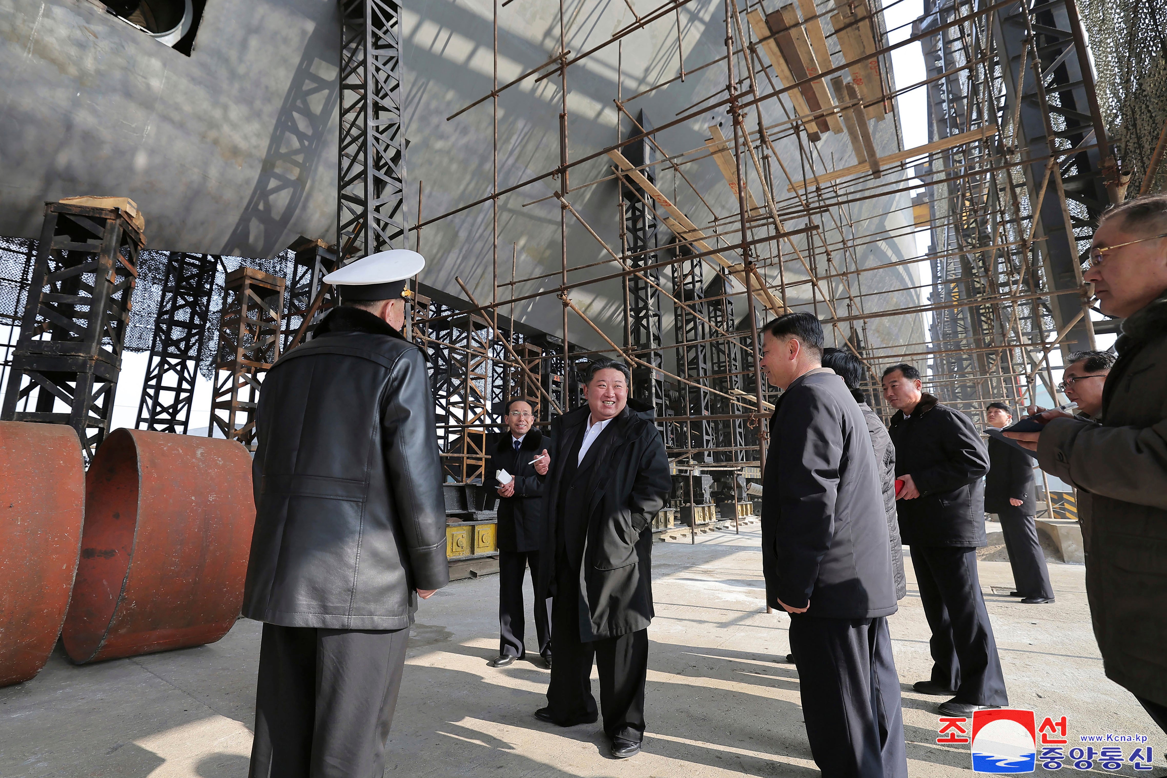
[[77,664],[215,643],[243,604],[256,505],[236,441],[118,429],[85,477],[62,640]]

